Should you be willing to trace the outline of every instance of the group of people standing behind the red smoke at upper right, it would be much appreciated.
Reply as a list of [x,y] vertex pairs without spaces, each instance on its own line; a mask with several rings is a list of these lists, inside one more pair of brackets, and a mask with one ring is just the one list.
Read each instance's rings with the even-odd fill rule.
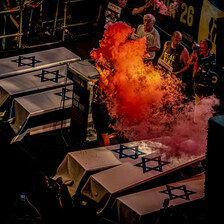
[[[136,27],[136,32],[131,39],[146,38],[147,52],[144,58],[146,63],[159,65],[181,79],[185,85],[188,85],[186,93],[188,97],[216,94],[219,77],[216,71],[215,54],[211,52],[212,42],[209,39],[205,38],[200,44],[194,42],[192,49],[187,49],[182,43],[182,33],[174,31],[171,39],[161,46],[160,33],[155,28],[156,16],[152,12],[149,13],[154,1],[110,0],[109,2],[115,7],[109,10],[108,2],[104,2],[106,2],[104,5],[100,4],[97,20],[103,14],[105,23],[123,21],[135,27],[134,16],[142,16],[142,23]],[[117,11],[116,6],[120,10]],[[116,20],[108,20],[108,15],[116,16]],[[193,73],[190,74],[190,78],[187,77],[189,72]]]

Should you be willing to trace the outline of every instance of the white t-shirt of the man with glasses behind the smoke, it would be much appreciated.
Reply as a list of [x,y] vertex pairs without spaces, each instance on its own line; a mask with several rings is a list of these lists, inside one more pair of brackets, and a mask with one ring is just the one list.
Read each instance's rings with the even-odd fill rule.
[[[149,47],[157,47],[160,48],[160,35],[159,32],[153,27],[153,30],[151,32],[145,32],[144,31],[144,25],[141,24],[138,26],[136,35],[141,37],[146,37],[146,46]],[[148,52],[149,53],[149,59],[153,59],[155,57],[155,51]]]

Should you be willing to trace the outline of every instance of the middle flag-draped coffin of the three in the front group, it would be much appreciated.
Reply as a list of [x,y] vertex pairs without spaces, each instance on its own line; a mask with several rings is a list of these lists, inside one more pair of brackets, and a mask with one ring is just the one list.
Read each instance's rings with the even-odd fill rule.
[[[165,147],[161,144],[161,147]],[[98,213],[111,206],[116,195],[124,195],[127,190],[140,186],[195,164],[205,158],[205,155],[186,157],[182,159],[166,158],[159,153],[139,157],[133,162],[126,162],[119,166],[91,175],[81,190],[81,194],[98,204]]]

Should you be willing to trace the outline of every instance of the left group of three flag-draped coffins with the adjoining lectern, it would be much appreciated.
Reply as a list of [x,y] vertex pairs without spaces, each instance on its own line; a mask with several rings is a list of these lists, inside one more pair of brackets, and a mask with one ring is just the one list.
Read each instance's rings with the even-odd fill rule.
[[15,132],[11,143],[26,134],[70,127],[73,107],[88,116],[90,99],[85,102],[87,106],[78,102],[72,76],[84,80],[78,87],[91,95],[92,86],[83,83],[99,74],[90,62],[68,49],[58,47],[4,58],[0,67],[0,121],[9,122]]

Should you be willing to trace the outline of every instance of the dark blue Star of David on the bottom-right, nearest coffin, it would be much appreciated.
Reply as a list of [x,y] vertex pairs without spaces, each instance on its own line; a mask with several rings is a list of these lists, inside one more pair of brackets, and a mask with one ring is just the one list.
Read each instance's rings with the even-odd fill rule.
[[174,186],[166,186],[166,190],[160,191],[160,193],[168,194],[170,200],[176,199],[176,198],[182,198],[185,200],[190,200],[189,195],[195,194],[196,192],[187,190],[185,185],[174,187]]

